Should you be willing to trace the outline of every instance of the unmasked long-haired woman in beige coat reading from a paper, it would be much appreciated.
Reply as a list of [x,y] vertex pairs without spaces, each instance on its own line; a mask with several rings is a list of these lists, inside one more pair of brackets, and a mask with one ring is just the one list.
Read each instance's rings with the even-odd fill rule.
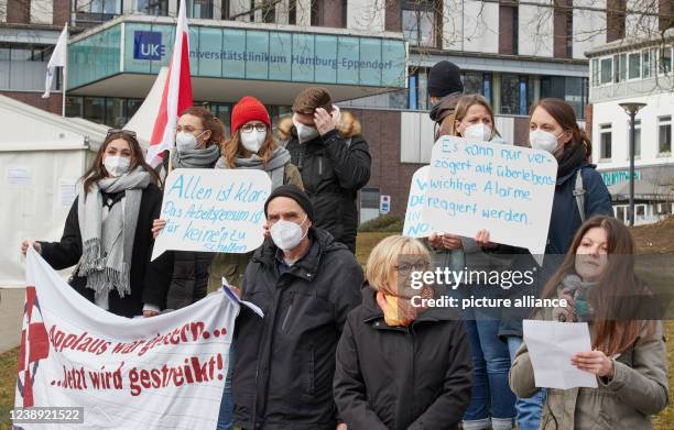
[[[650,416],[668,404],[667,362],[661,321],[643,320],[652,293],[634,274],[634,243],[622,222],[594,217],[576,233],[543,297],[568,306],[541,309],[536,318],[587,322],[593,351],[572,364],[597,377],[598,388],[546,390],[541,429],[651,429]],[[533,396],[531,359],[523,343],[510,370],[518,396]]]

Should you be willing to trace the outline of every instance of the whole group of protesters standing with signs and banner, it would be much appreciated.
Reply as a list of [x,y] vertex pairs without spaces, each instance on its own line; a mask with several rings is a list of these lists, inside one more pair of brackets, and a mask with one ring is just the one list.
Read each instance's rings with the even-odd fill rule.
[[[464,93],[456,65],[431,69],[428,97],[436,139],[513,144],[497,130],[489,102]],[[649,287],[626,263],[631,233],[611,218],[591,143],[568,103],[536,101],[522,143],[557,159],[537,285],[539,296],[568,305],[530,315],[412,306],[413,295],[446,293],[434,285],[411,291],[413,272],[536,264],[485,229],[474,238],[389,236],[363,274],[356,201],[371,156],[361,124],[319,87],[303,90],[292,110],[274,130],[264,104],[243,97],[226,136],[210,111],[192,107],[159,172],[133,131],[110,130],[61,241],[24,241],[22,252],[33,246],[56,269],[76,266],[73,288],[123,317],[186,307],[219,289],[222,277],[260,307],[264,318],[243,307],[237,318],[218,429],[651,428],[651,416],[668,404],[662,323],[601,318],[616,291],[639,296]],[[160,178],[180,168],[265,172],[264,243],[248,254],[168,251],[151,262],[165,227]],[[536,387],[524,318],[588,322],[593,350],[572,364],[596,375],[598,388]]]

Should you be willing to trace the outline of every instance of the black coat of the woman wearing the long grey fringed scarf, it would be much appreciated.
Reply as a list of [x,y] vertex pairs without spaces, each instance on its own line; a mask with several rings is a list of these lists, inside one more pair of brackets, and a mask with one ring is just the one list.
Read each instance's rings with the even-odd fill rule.
[[[61,241],[40,242],[42,257],[57,271],[74,266],[81,257],[77,201],[78,199],[75,199],[66,218]],[[143,190],[133,239],[130,269],[131,294],[120,298],[116,290],[110,291],[108,306],[112,313],[131,318],[142,315],[144,304],[157,306],[160,309],[165,306],[171,274],[161,271],[161,265],[156,262],[150,262],[154,243],[152,221],[159,218],[161,207],[162,191],[155,185],[150,185]],[[73,274],[69,283],[77,293],[94,301],[94,290],[87,288],[86,277]]]

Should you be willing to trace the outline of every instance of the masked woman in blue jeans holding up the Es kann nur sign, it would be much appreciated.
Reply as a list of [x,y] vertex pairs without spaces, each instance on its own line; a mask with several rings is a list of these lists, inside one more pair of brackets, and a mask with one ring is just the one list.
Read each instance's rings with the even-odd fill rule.
[[[482,96],[463,96],[456,107],[453,135],[470,141],[504,144],[493,125],[491,107]],[[487,252],[496,244],[488,242],[488,232],[474,239],[455,234],[433,233],[428,243],[435,250],[435,265],[453,271],[492,271],[506,268],[508,262]],[[467,286],[467,294],[480,286]],[[460,288],[461,289],[461,288]],[[465,288],[463,288],[465,289]],[[508,387],[510,355],[508,344],[498,337],[500,311],[477,312],[466,309],[464,319],[475,366],[470,405],[464,415],[464,429],[509,430],[515,419],[515,396]]]

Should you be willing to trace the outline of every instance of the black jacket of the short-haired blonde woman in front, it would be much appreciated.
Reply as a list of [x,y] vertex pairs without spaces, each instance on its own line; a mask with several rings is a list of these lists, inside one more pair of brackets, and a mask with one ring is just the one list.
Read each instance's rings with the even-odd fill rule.
[[407,328],[389,327],[374,290],[362,289],[337,346],[335,403],[349,430],[457,429],[471,385],[458,313],[430,308]]

